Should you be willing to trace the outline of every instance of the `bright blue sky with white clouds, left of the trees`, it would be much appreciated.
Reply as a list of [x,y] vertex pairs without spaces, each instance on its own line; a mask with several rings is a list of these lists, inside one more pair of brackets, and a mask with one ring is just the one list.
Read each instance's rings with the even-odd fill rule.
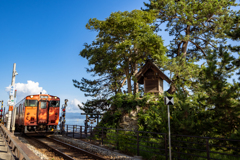
[[[85,28],[90,18],[104,20],[112,12],[144,7],[147,0],[1,0],[0,1],[0,100],[7,107],[13,63],[16,63],[17,101],[40,91],[69,99],[68,112],[80,112],[87,100],[72,79],[90,78],[87,60],[79,56],[84,43],[96,32]],[[164,44],[171,37],[161,33]],[[237,44],[237,42],[233,42]],[[165,84],[164,90],[168,87]]]

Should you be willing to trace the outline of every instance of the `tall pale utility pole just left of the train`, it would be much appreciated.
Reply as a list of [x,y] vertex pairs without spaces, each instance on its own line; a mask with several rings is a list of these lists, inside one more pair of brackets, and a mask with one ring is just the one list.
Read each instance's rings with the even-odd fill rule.
[[8,100],[8,121],[7,121],[7,129],[10,131],[10,124],[11,124],[11,118],[12,118],[12,111],[14,106],[14,87],[15,87],[15,76],[18,75],[16,71],[16,63],[13,64],[13,73],[12,73],[12,83],[11,83],[11,89],[9,94],[9,100]]

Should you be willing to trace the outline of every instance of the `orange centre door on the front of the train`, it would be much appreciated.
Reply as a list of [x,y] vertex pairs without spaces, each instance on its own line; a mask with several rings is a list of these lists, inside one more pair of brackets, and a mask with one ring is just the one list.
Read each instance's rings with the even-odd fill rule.
[[38,105],[38,124],[48,123],[48,102],[39,101]]

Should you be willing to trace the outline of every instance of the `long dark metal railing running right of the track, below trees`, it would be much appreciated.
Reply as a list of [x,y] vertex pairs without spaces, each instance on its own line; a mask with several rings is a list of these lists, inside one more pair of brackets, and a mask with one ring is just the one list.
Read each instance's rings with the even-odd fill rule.
[[[168,159],[167,133],[66,125],[66,135],[86,138],[146,159]],[[171,135],[173,159],[240,159],[240,140]]]

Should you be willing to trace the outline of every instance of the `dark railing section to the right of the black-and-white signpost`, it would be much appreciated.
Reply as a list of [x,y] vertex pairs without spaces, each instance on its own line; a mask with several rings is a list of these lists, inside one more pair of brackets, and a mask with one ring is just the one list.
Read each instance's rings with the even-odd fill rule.
[[173,157],[177,159],[240,159],[240,140],[172,134]]

